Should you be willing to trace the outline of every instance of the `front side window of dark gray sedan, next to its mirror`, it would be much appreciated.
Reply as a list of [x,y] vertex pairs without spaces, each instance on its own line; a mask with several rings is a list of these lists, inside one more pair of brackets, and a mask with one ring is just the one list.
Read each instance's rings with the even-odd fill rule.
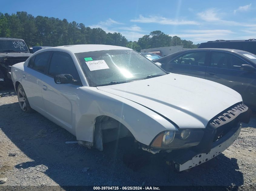
[[229,53],[212,52],[211,67],[240,70],[242,64],[247,64],[244,60]]

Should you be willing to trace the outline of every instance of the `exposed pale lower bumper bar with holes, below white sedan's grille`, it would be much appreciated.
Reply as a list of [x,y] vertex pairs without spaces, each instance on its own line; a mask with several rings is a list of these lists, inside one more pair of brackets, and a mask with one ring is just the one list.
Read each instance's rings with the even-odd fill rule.
[[174,161],[175,168],[178,171],[187,170],[189,168],[195,167],[199,164],[202,164],[214,157],[218,154],[226,150],[238,137],[241,131],[241,123],[239,123],[236,127],[232,128],[226,135],[224,135],[221,139],[217,140],[212,144],[211,151],[208,153],[196,153],[194,151],[190,151],[186,153],[185,156],[192,156],[188,161],[184,162],[183,160],[179,160],[178,158]]

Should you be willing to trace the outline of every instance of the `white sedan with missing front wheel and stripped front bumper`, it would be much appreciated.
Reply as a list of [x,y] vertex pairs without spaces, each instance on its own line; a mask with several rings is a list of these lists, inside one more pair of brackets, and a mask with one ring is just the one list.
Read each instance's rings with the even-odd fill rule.
[[131,136],[145,151],[168,153],[179,171],[220,154],[250,118],[236,91],[165,72],[120,46],[42,49],[13,65],[11,76],[21,109],[41,113],[79,144],[102,151]]

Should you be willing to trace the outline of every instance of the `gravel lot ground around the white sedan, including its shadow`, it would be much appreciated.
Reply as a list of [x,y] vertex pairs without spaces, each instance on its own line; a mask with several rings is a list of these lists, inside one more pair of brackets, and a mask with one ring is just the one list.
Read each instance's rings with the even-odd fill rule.
[[[165,164],[161,155],[145,151],[132,168],[128,167],[123,161],[122,141],[105,145],[102,152],[65,144],[76,138],[39,113],[23,113],[13,89],[0,94],[0,178],[8,178],[0,189],[53,185],[200,185],[256,190],[255,113],[223,154],[189,172],[178,173]],[[16,155],[8,156],[9,153]]]

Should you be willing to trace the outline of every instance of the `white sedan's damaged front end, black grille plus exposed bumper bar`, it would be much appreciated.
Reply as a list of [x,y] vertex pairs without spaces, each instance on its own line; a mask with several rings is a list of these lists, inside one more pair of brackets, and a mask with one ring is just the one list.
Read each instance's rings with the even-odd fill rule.
[[238,137],[241,123],[248,123],[251,110],[240,103],[218,114],[208,123],[204,137],[195,147],[174,150],[167,156],[178,171],[202,164],[226,150]]

